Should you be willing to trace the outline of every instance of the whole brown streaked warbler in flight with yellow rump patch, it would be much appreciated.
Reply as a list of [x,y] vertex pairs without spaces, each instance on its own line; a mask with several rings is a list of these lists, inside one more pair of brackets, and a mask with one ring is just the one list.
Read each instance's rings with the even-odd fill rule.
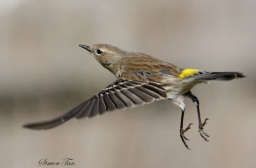
[[118,79],[99,94],[82,102],[64,115],[47,122],[30,123],[24,125],[24,127],[29,129],[51,129],[67,122],[70,118],[90,118],[115,109],[134,108],[154,101],[169,99],[182,111],[180,137],[188,148],[188,144],[186,144],[188,139],[184,136],[184,132],[190,129],[192,123],[186,129],[183,129],[184,97],[189,97],[196,105],[200,135],[205,141],[208,141],[207,137],[209,137],[204,132],[204,125],[208,118],[204,122],[201,121],[199,101],[190,92],[191,88],[198,83],[207,83],[211,80],[232,80],[244,77],[242,73],[237,72],[216,73],[198,69],[183,69],[145,53],[125,52],[111,45],[79,46],[92,53],[93,57],[103,67],[115,74]]

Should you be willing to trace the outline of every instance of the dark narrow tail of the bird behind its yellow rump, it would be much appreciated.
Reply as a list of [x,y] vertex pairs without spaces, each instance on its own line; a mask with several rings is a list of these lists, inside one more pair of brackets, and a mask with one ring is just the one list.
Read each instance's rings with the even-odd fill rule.
[[195,76],[197,81],[210,80],[233,80],[234,78],[244,78],[243,73],[238,72],[204,72]]

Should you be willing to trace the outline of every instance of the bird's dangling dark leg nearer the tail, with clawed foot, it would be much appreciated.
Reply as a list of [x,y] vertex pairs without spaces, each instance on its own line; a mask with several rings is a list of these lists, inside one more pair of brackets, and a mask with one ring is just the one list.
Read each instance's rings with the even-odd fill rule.
[[201,116],[200,116],[200,108],[199,108],[199,100],[198,100],[198,98],[195,95],[193,95],[190,91],[188,93],[186,93],[186,95],[189,97],[189,99],[191,99],[194,102],[194,104],[196,104],[198,121],[199,121],[198,131],[200,133],[200,136],[202,136],[205,141],[209,141],[209,139],[207,139],[207,137],[209,137],[210,135],[204,132],[204,126],[207,123],[207,120],[209,120],[209,118],[206,118],[204,120],[204,123],[202,123]]

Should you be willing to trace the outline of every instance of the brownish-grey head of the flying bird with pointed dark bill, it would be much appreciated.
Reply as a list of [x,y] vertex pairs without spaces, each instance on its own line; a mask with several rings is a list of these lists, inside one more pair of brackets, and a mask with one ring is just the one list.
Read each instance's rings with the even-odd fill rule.
[[[120,60],[127,53],[119,48],[106,44],[97,44],[97,45],[79,45],[82,48],[88,50],[93,57],[99,61],[99,63],[108,68],[115,67],[115,65],[120,63]],[[109,69],[110,70],[110,69]]]

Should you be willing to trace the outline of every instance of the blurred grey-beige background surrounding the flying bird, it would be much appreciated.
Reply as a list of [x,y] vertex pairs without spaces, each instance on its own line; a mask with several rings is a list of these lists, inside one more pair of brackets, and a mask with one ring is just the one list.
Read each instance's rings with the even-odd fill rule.
[[[255,167],[256,1],[22,1],[0,2],[1,167],[39,167],[41,158],[72,167]],[[198,85],[202,118],[186,101],[161,101],[51,130],[23,129],[49,120],[115,80],[78,44],[108,43],[180,67],[241,71],[247,78]],[[43,166],[51,167],[51,166]],[[56,167],[56,166],[52,166]]]

